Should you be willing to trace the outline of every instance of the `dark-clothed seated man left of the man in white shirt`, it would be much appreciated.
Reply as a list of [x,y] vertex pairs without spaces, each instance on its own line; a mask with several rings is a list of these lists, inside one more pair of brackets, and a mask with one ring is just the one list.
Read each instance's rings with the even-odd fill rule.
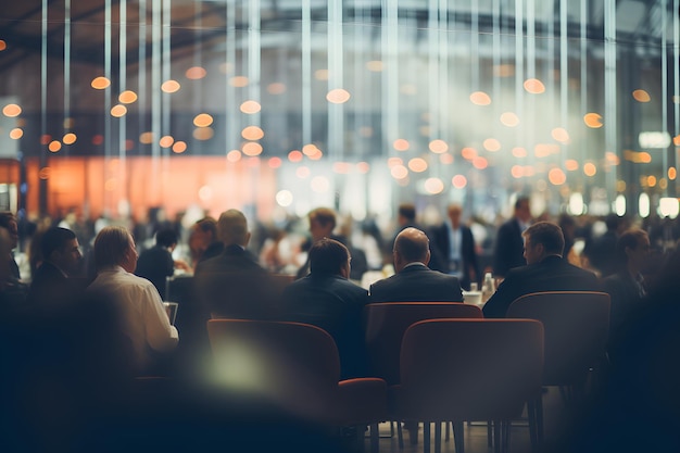
[[32,307],[59,310],[74,302],[80,280],[70,279],[77,274],[83,259],[75,232],[66,228],[52,227],[40,238],[42,263],[36,269],[28,289],[27,301]]

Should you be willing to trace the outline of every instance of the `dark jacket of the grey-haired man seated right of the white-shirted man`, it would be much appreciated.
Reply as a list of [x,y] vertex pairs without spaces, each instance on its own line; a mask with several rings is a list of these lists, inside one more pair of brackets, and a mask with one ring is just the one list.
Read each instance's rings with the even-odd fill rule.
[[269,274],[251,252],[239,246],[228,246],[221,255],[199,263],[193,282],[206,315],[241,319],[275,317],[277,294]]

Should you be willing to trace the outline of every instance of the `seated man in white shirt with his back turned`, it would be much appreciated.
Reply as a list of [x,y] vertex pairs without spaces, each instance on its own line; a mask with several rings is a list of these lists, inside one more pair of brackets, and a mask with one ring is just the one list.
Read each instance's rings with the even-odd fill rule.
[[129,231],[104,227],[95,239],[97,278],[88,291],[110,295],[121,310],[122,329],[133,350],[133,368],[139,374],[155,373],[159,353],[175,349],[179,335],[163,306],[153,284],[137,277],[137,250]]

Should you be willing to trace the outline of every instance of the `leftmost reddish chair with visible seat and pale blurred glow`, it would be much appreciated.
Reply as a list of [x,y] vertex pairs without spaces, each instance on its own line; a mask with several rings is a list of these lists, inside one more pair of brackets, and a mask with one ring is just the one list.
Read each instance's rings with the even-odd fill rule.
[[332,338],[301,323],[211,319],[207,334],[218,385],[272,402],[302,419],[363,433],[370,425],[378,450],[378,423],[387,419],[387,386],[379,378],[340,381]]

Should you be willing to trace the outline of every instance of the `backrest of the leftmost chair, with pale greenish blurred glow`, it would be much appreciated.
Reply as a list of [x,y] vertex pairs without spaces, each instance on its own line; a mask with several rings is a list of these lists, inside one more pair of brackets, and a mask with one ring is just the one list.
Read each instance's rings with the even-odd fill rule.
[[336,403],[340,360],[332,338],[301,323],[211,319],[217,385],[301,415]]

